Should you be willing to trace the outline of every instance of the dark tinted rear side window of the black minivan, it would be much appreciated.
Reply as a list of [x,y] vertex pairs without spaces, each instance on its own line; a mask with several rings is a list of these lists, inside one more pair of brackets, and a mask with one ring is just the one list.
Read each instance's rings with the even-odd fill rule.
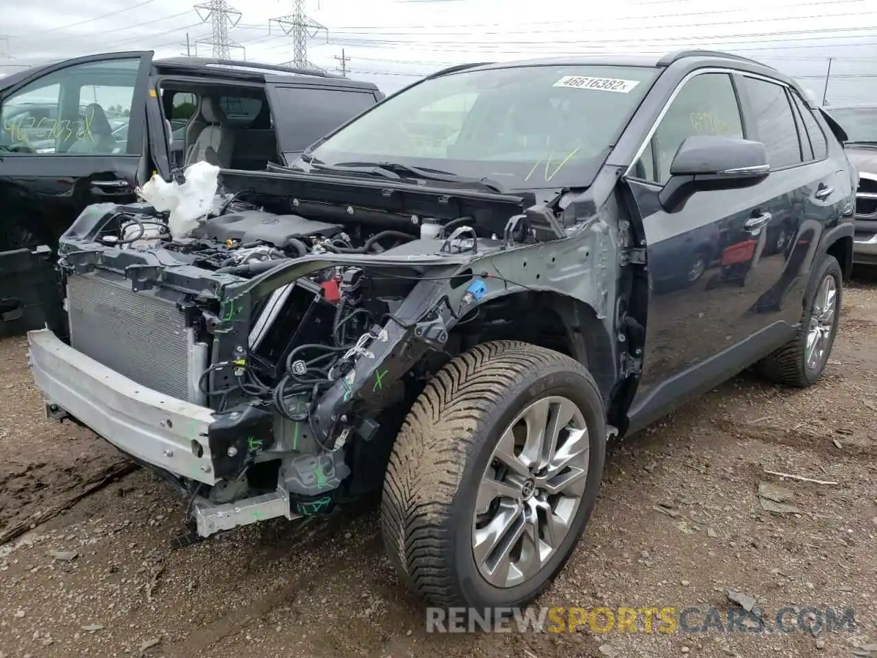
[[268,93],[277,138],[287,153],[303,151],[377,102],[371,91],[357,89],[271,86]]

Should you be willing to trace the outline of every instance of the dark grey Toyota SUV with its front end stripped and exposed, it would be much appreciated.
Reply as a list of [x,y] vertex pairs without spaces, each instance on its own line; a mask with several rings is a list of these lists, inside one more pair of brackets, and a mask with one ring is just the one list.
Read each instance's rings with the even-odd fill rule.
[[167,476],[200,537],[382,488],[438,605],[545,590],[613,437],[749,366],[815,383],[852,262],[831,126],[720,53],[447,69],[220,182],[189,234],[122,204],[61,238],[48,414]]

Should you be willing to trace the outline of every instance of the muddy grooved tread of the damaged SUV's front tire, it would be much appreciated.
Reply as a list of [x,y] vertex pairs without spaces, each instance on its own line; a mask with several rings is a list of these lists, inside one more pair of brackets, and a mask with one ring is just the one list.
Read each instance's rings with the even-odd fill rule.
[[485,417],[503,404],[516,380],[578,361],[513,340],[476,346],[450,361],[412,405],[389,458],[381,500],[385,552],[410,590],[431,604],[463,604],[453,574],[446,521]]

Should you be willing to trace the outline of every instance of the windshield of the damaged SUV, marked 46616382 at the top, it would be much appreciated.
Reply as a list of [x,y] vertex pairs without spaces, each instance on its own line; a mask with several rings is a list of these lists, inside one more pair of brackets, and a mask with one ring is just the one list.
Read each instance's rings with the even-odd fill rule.
[[393,162],[509,190],[588,185],[656,68],[462,71],[390,97],[315,148],[314,164]]

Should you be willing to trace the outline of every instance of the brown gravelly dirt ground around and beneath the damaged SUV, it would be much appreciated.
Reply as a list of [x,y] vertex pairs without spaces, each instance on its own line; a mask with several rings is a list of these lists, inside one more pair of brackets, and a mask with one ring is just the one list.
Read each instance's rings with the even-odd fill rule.
[[[42,418],[25,354],[21,338],[0,342],[0,533],[124,463],[88,431]],[[640,619],[638,633],[426,633],[381,555],[374,510],[171,551],[184,505],[137,469],[0,547],[0,658],[877,656],[875,371],[871,275],[845,290],[821,383],[786,390],[741,375],[626,440],[581,544],[538,601],[695,606],[690,627],[710,607],[734,609],[738,590],[768,629],[785,605],[852,608],[852,629],[665,634]],[[788,490],[782,504],[796,511],[764,509],[760,483]]]

